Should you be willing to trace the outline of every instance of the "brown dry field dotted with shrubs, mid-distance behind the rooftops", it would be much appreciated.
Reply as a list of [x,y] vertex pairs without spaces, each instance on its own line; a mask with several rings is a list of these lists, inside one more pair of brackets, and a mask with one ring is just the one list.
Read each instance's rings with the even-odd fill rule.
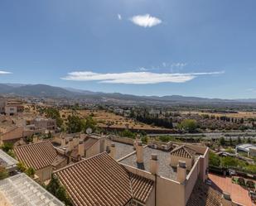
[[[115,128],[133,128],[133,129],[148,129],[148,130],[154,130],[154,129],[162,129],[160,127],[154,127],[151,125],[147,125],[141,122],[135,122],[131,118],[122,117],[119,115],[116,115],[114,113],[105,112],[102,110],[80,110],[76,111],[76,115],[79,115],[80,117],[88,117],[90,114],[93,113],[93,118],[97,122],[99,127],[115,127]],[[65,117],[68,117],[72,114],[71,110],[62,110],[60,111],[60,116],[65,115]]]

